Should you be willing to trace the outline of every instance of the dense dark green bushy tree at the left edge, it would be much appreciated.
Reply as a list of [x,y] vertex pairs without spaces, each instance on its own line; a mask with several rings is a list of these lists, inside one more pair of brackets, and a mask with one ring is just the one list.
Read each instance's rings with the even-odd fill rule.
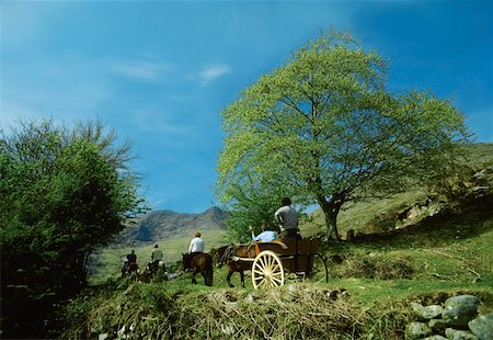
[[2,330],[42,337],[53,304],[77,294],[91,250],[144,208],[131,144],[100,123],[21,123],[0,139]]

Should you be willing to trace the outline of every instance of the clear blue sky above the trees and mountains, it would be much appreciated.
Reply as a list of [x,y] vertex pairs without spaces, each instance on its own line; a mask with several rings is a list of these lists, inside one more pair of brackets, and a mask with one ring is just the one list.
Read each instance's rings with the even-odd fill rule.
[[451,98],[493,141],[491,1],[2,1],[0,127],[100,120],[135,141],[154,209],[200,213],[220,112],[320,30],[390,61],[388,89]]

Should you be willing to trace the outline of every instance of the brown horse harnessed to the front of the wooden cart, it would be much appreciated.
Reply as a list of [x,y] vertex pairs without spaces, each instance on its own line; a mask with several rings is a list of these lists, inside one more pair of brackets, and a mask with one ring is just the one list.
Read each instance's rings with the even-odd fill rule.
[[228,285],[230,287],[234,287],[234,285],[231,283],[231,275],[234,272],[239,272],[241,286],[244,288],[244,271],[251,270],[252,264],[242,261],[234,261],[232,257],[254,258],[255,257],[254,245],[222,246],[218,248],[217,256],[218,256],[218,267],[221,267],[222,264],[228,264],[228,276],[226,277],[226,281],[228,281]]

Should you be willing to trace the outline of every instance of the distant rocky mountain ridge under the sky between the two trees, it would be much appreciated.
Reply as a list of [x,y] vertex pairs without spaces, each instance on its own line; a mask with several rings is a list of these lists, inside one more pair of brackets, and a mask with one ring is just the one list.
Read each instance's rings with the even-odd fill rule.
[[195,230],[226,230],[227,217],[228,214],[217,206],[200,214],[152,211],[131,220],[114,243],[149,243],[191,236]]

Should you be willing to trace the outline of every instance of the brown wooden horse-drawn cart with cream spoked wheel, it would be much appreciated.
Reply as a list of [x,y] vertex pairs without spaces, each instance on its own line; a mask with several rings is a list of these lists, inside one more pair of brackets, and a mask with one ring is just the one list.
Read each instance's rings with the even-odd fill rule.
[[[320,240],[297,240],[284,238],[272,242],[250,245],[243,253],[236,252],[231,260],[243,268],[251,268],[252,283],[255,290],[284,285],[286,274],[306,277],[313,272],[324,270],[324,280],[329,280],[326,263],[317,252]],[[316,263],[317,262],[317,263]]]

